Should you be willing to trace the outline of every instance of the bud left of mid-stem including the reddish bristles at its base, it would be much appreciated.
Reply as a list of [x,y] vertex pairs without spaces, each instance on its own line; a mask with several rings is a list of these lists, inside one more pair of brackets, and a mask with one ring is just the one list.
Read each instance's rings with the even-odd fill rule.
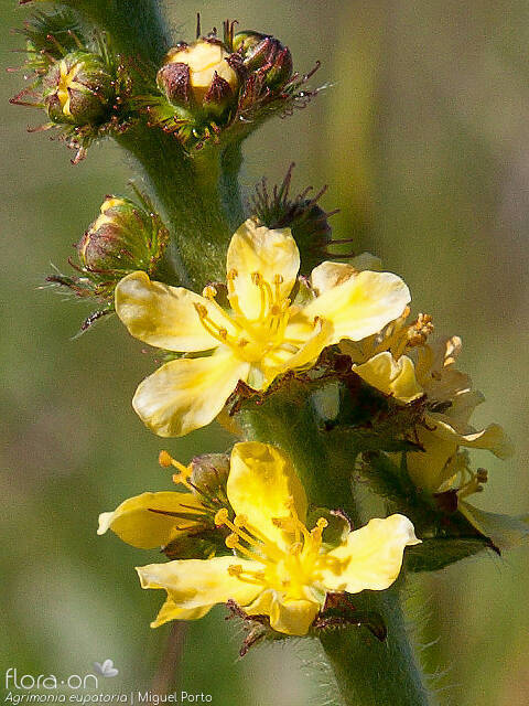
[[[95,299],[109,312],[122,277],[137,270],[155,272],[169,232],[147,196],[137,195],[141,205],[122,196],[107,196],[99,216],[76,245],[78,264],[71,265],[79,276],[51,275],[47,281],[68,287],[77,297]],[[90,323],[91,318],[83,329]]]

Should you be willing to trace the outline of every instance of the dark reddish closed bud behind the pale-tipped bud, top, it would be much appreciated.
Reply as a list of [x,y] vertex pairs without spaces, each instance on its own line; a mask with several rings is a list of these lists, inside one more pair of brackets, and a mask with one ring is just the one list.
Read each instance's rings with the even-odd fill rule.
[[234,36],[234,50],[248,72],[266,73],[264,84],[269,88],[283,86],[292,76],[292,54],[273,36],[245,30]]

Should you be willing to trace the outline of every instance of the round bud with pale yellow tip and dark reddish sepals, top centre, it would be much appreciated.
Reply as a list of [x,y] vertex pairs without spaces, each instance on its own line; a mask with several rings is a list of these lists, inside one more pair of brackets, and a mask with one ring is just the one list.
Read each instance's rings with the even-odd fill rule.
[[173,105],[201,107],[220,115],[234,101],[239,81],[216,39],[171,49],[158,72],[158,85]]

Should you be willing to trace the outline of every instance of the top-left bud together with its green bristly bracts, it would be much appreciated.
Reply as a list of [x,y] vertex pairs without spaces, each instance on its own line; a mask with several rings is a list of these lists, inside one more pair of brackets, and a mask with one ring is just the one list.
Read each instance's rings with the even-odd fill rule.
[[88,41],[75,15],[63,10],[34,15],[22,33],[24,68],[32,75],[11,103],[44,109],[50,121],[37,130],[60,128],[68,147],[77,151],[74,163],[95,139],[129,127],[131,75],[105,36]]

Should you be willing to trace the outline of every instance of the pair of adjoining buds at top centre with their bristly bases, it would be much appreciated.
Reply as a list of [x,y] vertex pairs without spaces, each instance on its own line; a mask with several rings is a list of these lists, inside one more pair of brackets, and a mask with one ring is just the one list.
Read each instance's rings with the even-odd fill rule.
[[187,147],[218,142],[222,133],[241,139],[266,117],[304,106],[316,93],[300,90],[313,72],[292,74],[292,55],[279,40],[235,34],[234,26],[226,21],[220,40],[216,30],[201,36],[198,24],[195,42],[181,42],[165,56],[156,78],[161,95],[144,98],[150,124]]

